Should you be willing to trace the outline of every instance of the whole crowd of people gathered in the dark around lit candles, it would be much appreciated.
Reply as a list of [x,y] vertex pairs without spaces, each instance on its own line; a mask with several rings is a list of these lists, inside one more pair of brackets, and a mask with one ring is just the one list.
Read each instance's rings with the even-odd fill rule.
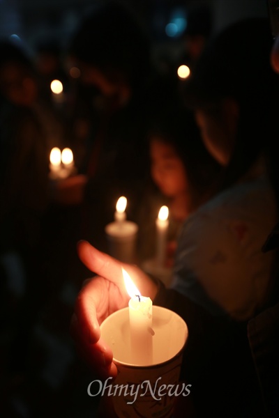
[[[115,2],[82,19],[68,66],[48,68],[1,42],[0,366],[10,417],[86,417],[98,408],[86,398],[91,376],[116,376],[100,324],[128,306],[123,263],[106,254],[104,231],[121,195],[139,225],[139,266],[153,256],[160,204],[169,206],[171,286],[125,268],[188,325],[181,380],[193,390],[183,416],[277,416],[272,44],[267,18],[236,22],[204,40],[181,82],[154,68],[148,37]],[[40,45],[37,58],[52,52]],[[55,78],[60,102],[47,87]],[[54,146],[73,150],[73,176],[50,177]]]

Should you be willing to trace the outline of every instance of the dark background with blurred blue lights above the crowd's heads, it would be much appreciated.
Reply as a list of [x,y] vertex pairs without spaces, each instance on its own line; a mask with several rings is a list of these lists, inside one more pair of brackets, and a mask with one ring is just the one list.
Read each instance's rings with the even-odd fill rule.
[[[105,1],[105,0],[100,0]],[[153,40],[153,54],[170,57],[181,50],[180,37],[170,38],[165,26],[173,17],[186,17],[188,10],[204,4],[212,10],[213,31],[246,16],[266,15],[264,0],[121,0],[142,21]],[[0,0],[0,38],[20,36],[33,52],[46,38],[66,47],[73,29],[92,0]]]

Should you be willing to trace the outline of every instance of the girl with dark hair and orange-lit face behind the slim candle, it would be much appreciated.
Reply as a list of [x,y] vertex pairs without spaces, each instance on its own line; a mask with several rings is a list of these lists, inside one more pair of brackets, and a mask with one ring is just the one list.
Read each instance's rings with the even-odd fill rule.
[[140,253],[145,253],[145,258],[147,251],[149,257],[154,255],[155,219],[165,204],[169,208],[166,261],[170,266],[183,222],[211,197],[220,166],[202,143],[194,115],[183,104],[176,79],[160,79],[149,96],[147,139],[153,186],[147,189],[140,208],[145,219],[140,222]]

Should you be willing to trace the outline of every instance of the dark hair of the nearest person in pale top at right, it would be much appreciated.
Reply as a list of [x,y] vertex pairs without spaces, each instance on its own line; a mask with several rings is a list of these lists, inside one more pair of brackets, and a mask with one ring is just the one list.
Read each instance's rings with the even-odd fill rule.
[[269,145],[271,114],[279,97],[269,59],[271,45],[268,20],[237,22],[209,42],[185,82],[184,97],[191,109],[214,114],[224,98],[239,105],[236,145],[221,189],[241,178]]

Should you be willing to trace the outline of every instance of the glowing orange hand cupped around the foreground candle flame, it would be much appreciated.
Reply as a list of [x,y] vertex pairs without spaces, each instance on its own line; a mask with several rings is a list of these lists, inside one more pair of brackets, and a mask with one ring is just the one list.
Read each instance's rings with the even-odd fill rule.
[[151,300],[157,286],[135,265],[123,264],[82,241],[77,247],[81,261],[89,270],[100,274],[84,282],[75,302],[75,314],[70,330],[82,357],[102,378],[115,377],[117,369],[112,362],[112,350],[100,337],[100,324],[115,311],[128,307],[121,268],[133,279],[140,293]]

